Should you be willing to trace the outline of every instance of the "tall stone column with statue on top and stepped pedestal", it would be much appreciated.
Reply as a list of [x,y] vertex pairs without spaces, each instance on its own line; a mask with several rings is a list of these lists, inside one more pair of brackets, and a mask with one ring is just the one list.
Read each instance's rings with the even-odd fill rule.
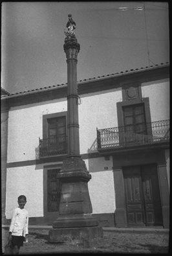
[[59,216],[49,231],[49,241],[59,242],[64,237],[93,239],[102,237],[102,227],[93,218],[88,190],[91,179],[85,162],[80,156],[78,122],[77,57],[80,51],[74,34],[76,23],[69,14],[66,38],[63,45],[67,57],[67,158],[58,174],[61,181]]

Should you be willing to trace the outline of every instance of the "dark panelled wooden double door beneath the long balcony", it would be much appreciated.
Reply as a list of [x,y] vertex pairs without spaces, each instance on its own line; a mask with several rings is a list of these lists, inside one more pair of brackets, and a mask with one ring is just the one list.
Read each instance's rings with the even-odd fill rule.
[[156,165],[124,167],[128,226],[162,226]]

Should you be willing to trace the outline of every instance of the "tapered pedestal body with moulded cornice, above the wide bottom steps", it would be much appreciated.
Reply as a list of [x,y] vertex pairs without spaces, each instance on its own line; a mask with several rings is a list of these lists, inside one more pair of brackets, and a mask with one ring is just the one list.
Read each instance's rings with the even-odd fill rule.
[[85,162],[80,157],[65,159],[58,178],[61,181],[59,215],[92,213],[87,184],[91,174]]

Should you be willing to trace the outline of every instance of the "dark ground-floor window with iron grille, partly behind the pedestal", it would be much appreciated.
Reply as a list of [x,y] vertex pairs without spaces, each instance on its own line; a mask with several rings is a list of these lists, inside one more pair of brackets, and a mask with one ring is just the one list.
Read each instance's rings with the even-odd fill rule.
[[57,178],[58,170],[47,170],[47,209],[48,212],[59,211],[60,181]]

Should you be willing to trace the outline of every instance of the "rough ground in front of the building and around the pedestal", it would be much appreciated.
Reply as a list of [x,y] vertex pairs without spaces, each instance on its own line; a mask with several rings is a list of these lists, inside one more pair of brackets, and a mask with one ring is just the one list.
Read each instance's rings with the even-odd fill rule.
[[[8,230],[3,229],[3,250]],[[65,243],[48,242],[48,229],[29,229],[28,243],[21,247],[20,255],[56,253],[169,253],[167,233],[119,233],[103,231],[103,240],[68,240]]]

